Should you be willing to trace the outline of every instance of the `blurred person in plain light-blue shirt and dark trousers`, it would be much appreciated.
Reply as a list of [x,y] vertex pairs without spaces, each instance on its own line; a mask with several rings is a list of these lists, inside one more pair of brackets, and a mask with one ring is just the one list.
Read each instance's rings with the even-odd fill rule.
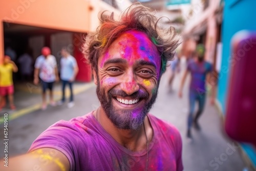
[[60,51],[61,59],[60,59],[60,79],[62,81],[62,98],[58,101],[58,105],[62,105],[65,102],[65,87],[66,84],[69,84],[70,89],[70,99],[68,103],[68,108],[72,108],[74,106],[74,97],[73,97],[73,82],[76,78],[76,74],[78,73],[78,66],[76,59],[70,55],[67,47],[63,47]]

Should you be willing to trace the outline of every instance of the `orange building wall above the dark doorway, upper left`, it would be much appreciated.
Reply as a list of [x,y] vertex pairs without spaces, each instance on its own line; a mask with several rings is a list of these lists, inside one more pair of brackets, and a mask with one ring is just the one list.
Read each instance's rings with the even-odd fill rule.
[[3,22],[88,32],[90,1],[87,0],[9,0],[0,1],[0,62],[4,55]]

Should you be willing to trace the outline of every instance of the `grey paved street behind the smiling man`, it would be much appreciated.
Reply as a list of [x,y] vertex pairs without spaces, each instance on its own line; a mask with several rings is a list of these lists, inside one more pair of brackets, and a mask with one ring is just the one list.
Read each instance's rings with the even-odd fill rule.
[[[210,106],[207,101],[205,111],[200,118],[201,131],[193,130],[194,139],[186,138],[186,116],[188,111],[187,91],[184,97],[178,98],[177,90],[181,75],[177,75],[174,81],[174,90],[170,93],[167,89],[166,72],[162,77],[159,88],[159,95],[151,113],[157,117],[173,123],[180,131],[183,139],[183,164],[184,170],[189,171],[210,171],[210,170],[243,170],[244,162],[240,157],[240,147],[225,136],[222,130],[221,117],[215,106]],[[82,87],[82,86],[81,86]],[[186,89],[186,87],[185,87]],[[22,94],[19,92],[19,94]],[[57,98],[57,96],[56,96]],[[16,97],[16,105],[20,104],[39,106],[40,95],[30,94],[30,98],[24,94]],[[76,116],[81,116],[95,110],[99,102],[95,93],[95,86],[87,90],[78,92],[75,95],[75,106],[71,109],[66,105],[52,107],[46,111],[41,111],[38,107],[31,109],[31,112],[23,113],[9,121],[9,155],[26,153],[31,143],[36,137],[47,129],[51,124],[63,119],[69,120]],[[3,114],[3,112],[2,112]],[[3,130],[3,123],[0,125]],[[3,139],[3,131],[0,133]],[[2,146],[2,145],[1,145]],[[1,147],[0,156],[3,156]],[[11,163],[10,163],[11,164]]]

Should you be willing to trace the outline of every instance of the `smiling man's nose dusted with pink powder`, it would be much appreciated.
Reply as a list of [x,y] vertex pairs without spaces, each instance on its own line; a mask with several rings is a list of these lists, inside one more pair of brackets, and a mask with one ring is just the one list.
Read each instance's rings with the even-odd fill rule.
[[121,83],[121,89],[127,95],[131,95],[137,91],[139,91],[140,87],[137,83],[137,80],[134,74],[127,74],[125,79]]

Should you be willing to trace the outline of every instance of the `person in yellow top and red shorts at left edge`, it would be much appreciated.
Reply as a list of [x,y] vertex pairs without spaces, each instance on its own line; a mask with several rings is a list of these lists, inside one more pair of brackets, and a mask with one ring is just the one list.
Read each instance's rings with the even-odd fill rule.
[[15,63],[11,60],[10,56],[5,55],[4,63],[0,65],[0,111],[3,107],[3,102],[5,101],[5,96],[8,95],[10,108],[15,110],[15,105],[13,103],[13,80],[12,72],[17,72],[18,68]]

